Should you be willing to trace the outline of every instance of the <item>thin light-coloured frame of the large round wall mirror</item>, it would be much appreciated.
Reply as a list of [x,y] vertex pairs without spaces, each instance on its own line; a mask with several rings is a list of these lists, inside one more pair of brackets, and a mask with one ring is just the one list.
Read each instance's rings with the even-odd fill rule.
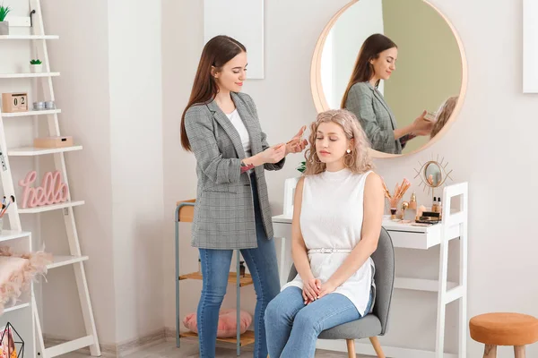
[[[334,22],[336,22],[338,18],[340,18],[340,15],[342,15],[342,13],[345,12],[350,6],[359,1],[360,0],[351,0],[349,4],[344,5],[343,8],[341,8],[337,13],[335,13],[331,20],[327,22],[325,28],[321,31],[321,35],[317,39],[316,47],[314,47],[314,55],[312,55],[312,64],[310,66],[310,88],[312,90],[312,98],[314,100],[314,105],[316,106],[317,113],[324,112],[330,109],[327,104],[325,94],[323,92],[323,87],[321,85],[321,55],[323,53],[323,47],[325,47],[325,40],[327,38],[327,35],[329,34],[329,31],[333,28]],[[437,7],[435,7],[433,4],[430,4],[427,0],[422,0],[422,2],[430,5],[430,7],[435,10],[443,18],[443,20],[447,22],[448,27],[450,28],[450,30],[452,30],[454,38],[456,38],[457,46],[459,48],[462,61],[462,87],[459,92],[459,99],[456,103],[454,111],[452,112],[452,115],[450,115],[450,118],[448,118],[447,120],[447,124],[445,124],[443,128],[437,133],[437,135],[435,135],[430,141],[421,146],[421,148],[412,150],[411,152],[404,154],[388,154],[378,150],[370,149],[370,154],[373,158],[399,158],[409,156],[414,153],[418,153],[423,149],[429,148],[432,144],[438,141],[439,138],[445,135],[447,130],[456,120],[456,117],[457,115],[459,115],[461,107],[464,104],[465,92],[467,90],[467,60],[465,58],[462,40],[458,36],[454,25],[452,25],[452,23],[448,21],[447,17],[443,13],[441,13]]]

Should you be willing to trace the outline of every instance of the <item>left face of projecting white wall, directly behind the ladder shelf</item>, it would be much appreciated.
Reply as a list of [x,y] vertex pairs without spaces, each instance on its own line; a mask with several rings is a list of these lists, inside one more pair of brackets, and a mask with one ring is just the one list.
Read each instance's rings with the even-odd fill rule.
[[[21,1],[21,3],[23,3]],[[112,188],[110,159],[110,99],[108,93],[107,1],[41,2],[45,31],[59,35],[48,41],[60,131],[73,135],[82,150],[65,155],[70,190],[74,200],[85,205],[74,209],[85,263],[97,331],[104,344],[116,341],[114,313]],[[99,24],[86,19],[99,19]],[[90,26],[89,26],[90,24]],[[82,45],[82,46],[81,46]],[[45,132],[41,132],[43,135]],[[52,167],[45,158],[42,167]],[[41,215],[46,250],[69,252],[61,212]],[[50,337],[85,336],[72,267],[50,270],[42,285],[43,326]]]

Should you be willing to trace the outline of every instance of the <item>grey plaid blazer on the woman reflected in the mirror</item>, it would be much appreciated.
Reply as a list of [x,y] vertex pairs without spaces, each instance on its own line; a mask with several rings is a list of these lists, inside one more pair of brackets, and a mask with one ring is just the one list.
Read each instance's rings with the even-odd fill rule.
[[359,119],[372,149],[390,154],[402,154],[402,144],[395,140],[395,115],[383,95],[369,82],[355,83],[348,93],[345,109]]

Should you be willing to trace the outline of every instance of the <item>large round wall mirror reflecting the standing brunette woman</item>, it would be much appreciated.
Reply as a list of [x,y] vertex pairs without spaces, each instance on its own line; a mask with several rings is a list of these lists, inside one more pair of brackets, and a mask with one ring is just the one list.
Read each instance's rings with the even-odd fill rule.
[[417,152],[444,135],[466,78],[456,31],[423,0],[352,0],[325,26],[311,67],[317,111],[350,110],[376,158]]

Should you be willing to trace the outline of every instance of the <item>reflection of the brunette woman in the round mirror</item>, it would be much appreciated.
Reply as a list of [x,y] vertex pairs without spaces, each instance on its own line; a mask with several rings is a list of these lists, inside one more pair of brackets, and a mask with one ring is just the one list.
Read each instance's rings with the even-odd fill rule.
[[430,135],[433,122],[423,111],[412,124],[397,128],[395,115],[377,87],[388,80],[396,69],[398,47],[385,35],[369,36],[360,47],[351,80],[343,94],[341,107],[351,111],[360,121],[372,149],[402,154],[407,141]]

